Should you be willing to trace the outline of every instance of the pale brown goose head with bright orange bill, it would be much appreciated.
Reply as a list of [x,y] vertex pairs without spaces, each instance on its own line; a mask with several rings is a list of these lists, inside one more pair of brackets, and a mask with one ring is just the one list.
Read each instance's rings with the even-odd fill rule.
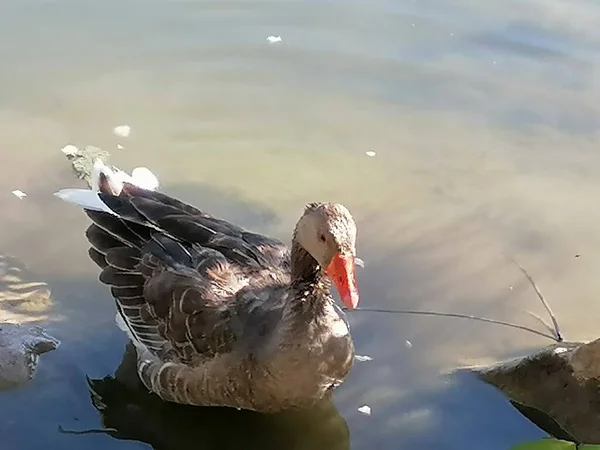
[[344,305],[358,305],[356,224],[339,203],[311,203],[296,227],[296,240],[321,266]]

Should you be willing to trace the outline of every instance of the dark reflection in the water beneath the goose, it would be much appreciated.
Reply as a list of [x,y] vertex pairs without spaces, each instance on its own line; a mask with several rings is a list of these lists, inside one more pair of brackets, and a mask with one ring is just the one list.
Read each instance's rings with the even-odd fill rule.
[[[88,379],[102,432],[156,450],[347,450],[350,433],[330,399],[308,410],[260,414],[231,408],[167,403],[148,393],[128,344],[113,377]],[[93,432],[93,431],[92,431]]]

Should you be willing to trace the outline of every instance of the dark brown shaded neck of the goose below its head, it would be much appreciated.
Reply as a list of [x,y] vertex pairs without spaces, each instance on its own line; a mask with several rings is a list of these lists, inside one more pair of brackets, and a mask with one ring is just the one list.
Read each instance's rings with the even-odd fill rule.
[[302,320],[315,319],[331,299],[329,281],[321,266],[296,239],[290,254],[292,283],[288,311]]

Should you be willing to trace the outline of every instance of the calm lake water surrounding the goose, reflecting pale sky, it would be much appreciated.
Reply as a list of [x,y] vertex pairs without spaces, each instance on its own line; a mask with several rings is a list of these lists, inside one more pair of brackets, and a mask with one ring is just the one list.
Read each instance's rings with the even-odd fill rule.
[[[130,398],[105,380],[102,417],[86,377],[112,375],[126,339],[87,257],[86,217],[52,193],[79,185],[60,152],[71,143],[145,165],[164,192],[280,238],[305,203],[340,201],[359,226],[362,306],[539,328],[515,258],[567,339],[593,339],[598,14],[585,0],[2,2],[0,253],[52,297],[0,318],[62,341],[31,383],[0,393],[4,446],[506,450],[543,436],[455,369],[549,341],[370,312],[349,320],[372,361],[356,362],[333,405],[264,418]],[[112,132],[121,124],[128,138]],[[117,431],[59,429],[103,424]]]

